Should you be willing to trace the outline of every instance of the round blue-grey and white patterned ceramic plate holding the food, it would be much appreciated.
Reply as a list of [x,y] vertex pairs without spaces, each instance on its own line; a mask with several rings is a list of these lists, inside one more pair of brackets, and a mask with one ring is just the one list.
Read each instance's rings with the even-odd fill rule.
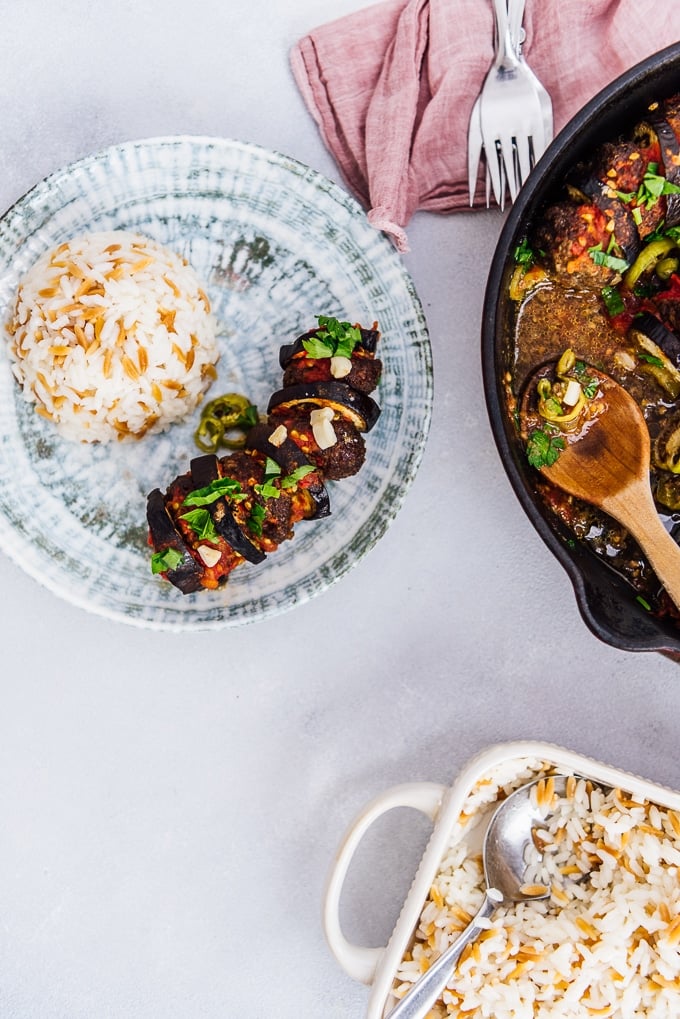
[[3,320],[43,251],[103,229],[154,237],[202,277],[220,332],[210,395],[243,392],[263,412],[280,388],[280,343],[335,315],[378,322],[382,414],[361,472],[329,483],[329,518],[298,524],[293,541],[221,590],[182,595],[151,574],[146,496],[188,470],[196,418],[139,443],[66,441],[23,400],[3,343],[0,545],[68,601],[153,629],[255,622],[319,594],[384,533],[429,426],[429,340],[399,255],[354,199],[293,159],[220,139],[127,143],[52,174],[0,221]]

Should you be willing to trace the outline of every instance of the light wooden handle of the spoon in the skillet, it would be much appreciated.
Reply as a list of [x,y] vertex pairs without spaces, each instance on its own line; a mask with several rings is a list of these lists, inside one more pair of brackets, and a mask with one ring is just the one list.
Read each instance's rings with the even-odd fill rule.
[[618,496],[603,502],[633,535],[669,596],[680,608],[680,546],[668,533],[657,513],[646,482],[629,485]]

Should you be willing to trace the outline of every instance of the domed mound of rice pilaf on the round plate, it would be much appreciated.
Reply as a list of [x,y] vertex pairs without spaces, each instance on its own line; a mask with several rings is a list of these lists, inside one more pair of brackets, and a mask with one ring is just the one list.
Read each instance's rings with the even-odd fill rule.
[[6,328],[25,399],[70,439],[164,431],[216,376],[215,322],[195,270],[125,230],[84,234],[41,256]]

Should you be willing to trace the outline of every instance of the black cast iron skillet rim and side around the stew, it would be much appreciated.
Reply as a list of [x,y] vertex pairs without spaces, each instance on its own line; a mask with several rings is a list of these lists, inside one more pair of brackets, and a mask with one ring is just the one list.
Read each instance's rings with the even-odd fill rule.
[[656,620],[635,601],[624,581],[585,546],[567,544],[567,533],[544,509],[505,407],[503,376],[511,368],[508,282],[513,253],[527,224],[553,200],[567,171],[608,139],[641,118],[655,99],[680,91],[680,43],[626,71],[607,86],[564,127],[530,174],[514,204],[493,256],[482,319],[484,394],[503,465],[517,497],[547,547],[567,571],[583,620],[600,640],[626,651],[680,654],[680,629]]

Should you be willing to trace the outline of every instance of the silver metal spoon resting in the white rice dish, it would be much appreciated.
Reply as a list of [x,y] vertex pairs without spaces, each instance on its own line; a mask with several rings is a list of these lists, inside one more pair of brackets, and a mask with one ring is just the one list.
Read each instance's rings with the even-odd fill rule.
[[[496,808],[484,836],[486,890],[481,906],[465,930],[416,980],[386,1019],[423,1019],[446,988],[463,949],[485,929],[485,921],[500,906],[548,898],[548,889],[524,883],[527,850],[535,845],[532,832],[545,826],[545,812],[531,801],[531,790],[541,781],[545,780],[522,786]],[[555,794],[564,796],[566,786],[566,779],[556,776]]]

